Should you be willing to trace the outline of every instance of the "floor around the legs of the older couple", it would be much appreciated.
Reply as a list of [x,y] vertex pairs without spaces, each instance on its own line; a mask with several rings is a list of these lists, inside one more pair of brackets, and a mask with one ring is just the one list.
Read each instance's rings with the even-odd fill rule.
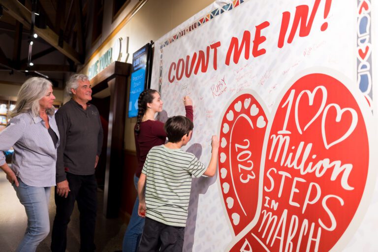
[[[102,214],[103,192],[98,190],[98,209],[95,230],[95,244],[98,252],[115,252],[122,250],[122,240],[126,224],[121,219],[106,219]],[[0,250],[13,252],[22,239],[27,226],[27,217],[23,205],[16,196],[16,192],[6,180],[5,173],[0,169]],[[54,193],[50,198],[50,225],[55,216]],[[78,252],[80,247],[79,211],[77,207],[71,216],[67,230],[66,252]],[[51,232],[40,243],[37,252],[50,251]]]

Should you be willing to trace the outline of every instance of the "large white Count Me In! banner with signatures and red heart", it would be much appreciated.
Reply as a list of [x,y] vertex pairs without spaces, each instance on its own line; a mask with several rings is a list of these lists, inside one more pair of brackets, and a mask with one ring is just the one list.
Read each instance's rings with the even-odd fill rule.
[[161,118],[190,95],[184,149],[208,163],[221,140],[217,176],[193,179],[184,251],[378,250],[372,7],[216,1],[155,41]]

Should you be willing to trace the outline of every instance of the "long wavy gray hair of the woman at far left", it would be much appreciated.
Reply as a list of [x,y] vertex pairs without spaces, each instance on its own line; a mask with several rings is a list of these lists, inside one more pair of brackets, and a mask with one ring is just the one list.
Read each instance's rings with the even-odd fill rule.
[[[10,113],[10,117],[29,111],[32,112],[33,117],[39,116],[39,100],[46,95],[51,86],[50,81],[41,77],[32,77],[26,80],[18,92],[16,106]],[[54,115],[55,108],[47,109],[46,113]]]

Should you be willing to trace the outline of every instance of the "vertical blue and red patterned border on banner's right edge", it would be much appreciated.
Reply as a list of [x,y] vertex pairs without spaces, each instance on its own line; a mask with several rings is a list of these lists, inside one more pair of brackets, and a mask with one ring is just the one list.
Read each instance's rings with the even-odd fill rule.
[[357,0],[357,85],[373,109],[370,0]]

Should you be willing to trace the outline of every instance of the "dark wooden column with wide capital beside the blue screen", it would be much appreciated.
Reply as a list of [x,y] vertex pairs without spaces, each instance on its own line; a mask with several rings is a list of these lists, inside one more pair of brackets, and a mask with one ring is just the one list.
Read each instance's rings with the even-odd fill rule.
[[126,93],[130,66],[128,63],[114,62],[91,80],[93,94],[109,88],[111,95],[103,206],[107,218],[118,217],[121,204]]

